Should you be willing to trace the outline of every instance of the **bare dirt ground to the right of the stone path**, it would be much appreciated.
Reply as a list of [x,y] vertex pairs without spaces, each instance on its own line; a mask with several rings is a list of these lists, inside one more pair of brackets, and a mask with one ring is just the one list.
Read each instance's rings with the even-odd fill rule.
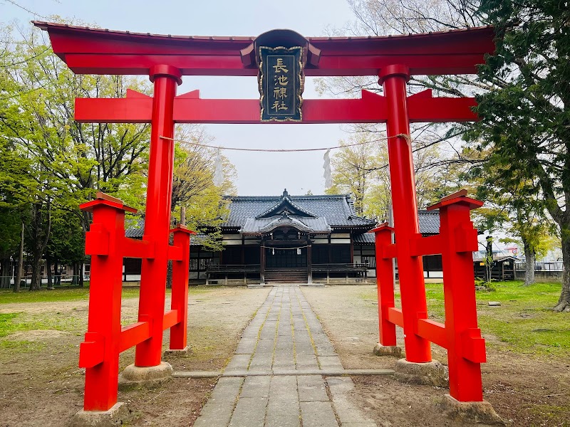
[[[303,293],[332,338],[345,369],[392,369],[395,358],[376,357],[378,304],[372,286],[304,288]],[[487,363],[482,364],[484,399],[510,426],[570,426],[570,354],[535,358],[505,351],[485,334]],[[398,328],[398,342],[403,343]],[[569,332],[570,333],[570,332]],[[447,364],[445,351],[432,346],[433,359]],[[456,426],[442,418],[442,396],[449,391],[403,384],[390,376],[353,376],[354,401],[379,426]]]

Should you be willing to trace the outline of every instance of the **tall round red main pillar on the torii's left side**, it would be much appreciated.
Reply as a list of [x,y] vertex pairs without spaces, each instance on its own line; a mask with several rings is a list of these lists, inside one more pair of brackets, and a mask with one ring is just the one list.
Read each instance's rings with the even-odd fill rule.
[[180,76],[180,70],[170,65],[156,65],[150,69],[154,96],[143,239],[155,245],[156,255],[152,260],[142,260],[138,316],[139,321],[150,317],[153,322],[150,339],[137,346],[136,367],[156,367],[160,365],[162,359],[164,330],[162,322],[165,312],[174,142],[160,137],[174,137],[172,107],[176,87],[182,83]]

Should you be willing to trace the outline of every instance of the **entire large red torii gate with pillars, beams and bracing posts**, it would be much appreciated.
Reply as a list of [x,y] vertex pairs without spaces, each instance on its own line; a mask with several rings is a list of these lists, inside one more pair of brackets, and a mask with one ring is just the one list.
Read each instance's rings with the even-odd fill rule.
[[[137,367],[159,365],[162,330],[172,325],[177,328],[177,339],[174,347],[171,339],[171,348],[185,345],[182,333],[185,337],[186,320],[182,315],[186,313],[182,305],[186,303],[187,292],[184,295],[180,294],[182,288],[177,290],[180,296],[176,303],[180,309],[173,306],[165,315],[165,290],[156,285],[165,283],[168,259],[180,260],[177,277],[180,283],[186,280],[184,287],[187,285],[187,264],[186,276],[183,272],[187,253],[183,252],[189,239],[182,238],[180,230],[177,232],[180,237],[175,238],[178,248],[168,244],[175,122],[260,122],[259,100],[204,100],[197,91],[176,96],[176,85],[182,83],[182,75],[257,75],[255,38],[163,36],[34,23],[48,31],[54,53],[75,73],[148,75],[154,83],[152,97],[129,90],[125,99],[76,100],[76,120],[80,122],[152,124],[145,233],[140,243],[145,248],[135,249],[135,243],[123,240],[121,215],[128,208],[120,201],[99,195],[97,201],[83,205],[83,209],[93,209],[94,225],[97,224],[90,233],[98,233],[91,238],[98,243],[88,240],[86,246],[86,252],[96,259],[94,268],[98,268],[98,263],[102,269],[105,263],[116,267],[118,259],[128,251],[142,258],[139,322],[127,330],[123,328],[123,332],[120,332],[120,292],[117,293],[116,287],[106,290],[113,303],[108,318],[94,313],[110,302],[103,300],[102,295],[93,297],[100,284],[95,281],[116,281],[115,275],[120,276],[120,271],[101,270],[99,275],[93,271],[88,333],[80,354],[80,362],[87,368],[84,409],[105,411],[117,401],[119,352],[136,344]],[[440,209],[440,235],[422,238],[409,124],[477,120],[471,110],[475,100],[432,97],[430,90],[408,97],[406,83],[410,75],[476,73],[484,55],[494,51],[493,37],[493,28],[483,27],[409,36],[306,39],[305,75],[378,75],[383,84],[383,96],[363,90],[361,99],[304,100],[302,123],[387,124],[395,220],[393,229],[386,225],[375,229],[380,344],[394,346],[395,325],[400,325],[404,329],[408,362],[430,362],[430,342],[445,347],[449,356],[450,394],[458,401],[482,401],[480,363],[485,361],[485,352],[477,328],[470,253],[477,249],[477,234],[469,216],[470,209],[482,203],[467,198],[464,192],[442,199],[432,206]],[[100,223],[96,209],[101,209]],[[114,213],[109,209],[115,209]],[[110,231],[115,233],[113,238]],[[396,244],[391,243],[391,233],[395,233]],[[421,256],[430,253],[442,253],[443,257],[445,325],[427,319]],[[402,310],[394,307],[391,258],[398,259]],[[172,298],[174,305],[174,290]],[[101,342],[103,336],[110,342]]]

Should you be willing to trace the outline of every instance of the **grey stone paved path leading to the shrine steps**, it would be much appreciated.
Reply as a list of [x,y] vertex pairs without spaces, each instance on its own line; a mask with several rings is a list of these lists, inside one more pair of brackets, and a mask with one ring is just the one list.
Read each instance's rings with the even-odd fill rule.
[[[299,286],[274,287],[244,330],[195,426],[372,427],[351,405],[350,376]],[[324,375],[318,371],[323,371]]]

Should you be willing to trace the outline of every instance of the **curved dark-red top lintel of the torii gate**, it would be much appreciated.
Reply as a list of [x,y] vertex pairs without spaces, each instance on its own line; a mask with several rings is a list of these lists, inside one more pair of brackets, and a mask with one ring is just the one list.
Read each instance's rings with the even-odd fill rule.
[[[148,75],[169,64],[182,75],[257,75],[245,68],[241,50],[254,38],[161,36],[36,22],[48,31],[53,51],[76,73]],[[308,38],[321,50],[318,68],[308,76],[376,75],[400,63],[410,74],[476,73],[484,54],[494,51],[493,28],[408,36]]]

